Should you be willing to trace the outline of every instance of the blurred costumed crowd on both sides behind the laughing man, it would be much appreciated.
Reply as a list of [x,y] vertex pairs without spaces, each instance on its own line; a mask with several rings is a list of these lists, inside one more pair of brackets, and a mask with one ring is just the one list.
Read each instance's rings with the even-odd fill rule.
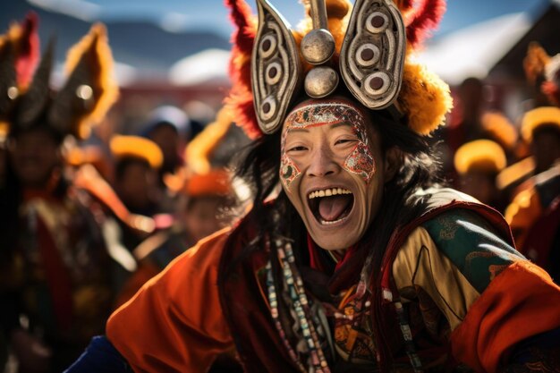
[[[0,39],[3,66],[16,43],[31,40],[27,22]],[[232,174],[249,139],[219,108],[203,123],[189,117],[187,103],[158,105],[126,133],[117,132],[120,113],[104,113],[98,122],[110,116],[108,139],[99,133],[106,125],[90,133],[58,125],[45,114],[56,99],[26,122],[21,118],[47,96],[33,91],[42,66],[23,84],[23,96],[39,95],[31,108],[18,103],[13,119],[0,103],[0,369],[10,372],[62,371],[91,336],[103,334],[116,307],[193,244],[234,224],[250,197]],[[560,55],[533,44],[524,67],[536,92],[530,110],[521,118],[490,110],[485,81],[467,79],[454,89],[444,130],[433,135],[434,152],[442,182],[504,214],[517,249],[557,280]],[[72,86],[86,104],[87,84]],[[0,89],[11,88],[0,81]],[[71,105],[64,110],[75,114]]]

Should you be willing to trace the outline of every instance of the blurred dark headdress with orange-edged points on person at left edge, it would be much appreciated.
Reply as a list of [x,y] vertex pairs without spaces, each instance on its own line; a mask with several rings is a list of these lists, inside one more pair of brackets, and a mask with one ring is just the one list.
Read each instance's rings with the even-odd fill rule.
[[47,125],[62,137],[72,134],[83,139],[118,96],[105,26],[93,25],[72,47],[65,64],[66,82],[55,92],[49,83],[52,40],[35,71],[37,23],[37,16],[31,13],[23,24],[13,24],[0,38],[0,122],[7,123],[10,133]]

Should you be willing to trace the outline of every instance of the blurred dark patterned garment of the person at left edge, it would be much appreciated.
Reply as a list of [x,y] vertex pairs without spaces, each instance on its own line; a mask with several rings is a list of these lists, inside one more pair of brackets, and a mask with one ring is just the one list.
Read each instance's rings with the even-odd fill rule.
[[[30,332],[42,335],[60,371],[80,355],[93,335],[104,331],[111,311],[111,261],[94,206],[72,188],[64,198],[28,192],[20,207],[20,230],[5,290],[28,318]],[[4,305],[8,307],[8,305]]]

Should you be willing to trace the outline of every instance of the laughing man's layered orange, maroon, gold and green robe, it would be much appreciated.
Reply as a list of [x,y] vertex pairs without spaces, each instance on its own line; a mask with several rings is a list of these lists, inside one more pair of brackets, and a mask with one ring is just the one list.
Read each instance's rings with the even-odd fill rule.
[[[510,357],[524,364],[543,348],[558,350],[550,341],[560,327],[560,288],[513,250],[501,217],[469,201],[434,197],[438,208],[403,228],[402,239],[395,235],[399,244],[386,255],[390,270],[373,281],[378,287],[369,287],[371,301],[360,305],[354,296],[355,267],[364,263],[359,251],[347,250],[332,275],[289,265],[301,275],[309,308],[320,305],[327,316],[330,333],[316,329],[315,338],[326,357],[324,371],[495,372]],[[284,338],[274,324],[267,290],[267,262],[274,256],[267,250],[237,256],[254,237],[254,219],[188,250],[110,318],[107,337],[132,369],[204,371],[232,345],[246,371],[306,366],[295,322],[303,318],[282,309],[284,298],[276,298],[282,299],[276,307]],[[224,277],[226,267],[233,270]],[[280,274],[272,276],[278,286]],[[299,364],[293,354],[303,358]]]

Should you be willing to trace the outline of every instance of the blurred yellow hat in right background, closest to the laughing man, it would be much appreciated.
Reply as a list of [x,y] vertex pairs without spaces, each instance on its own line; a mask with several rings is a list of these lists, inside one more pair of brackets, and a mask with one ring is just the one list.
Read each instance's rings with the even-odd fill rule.
[[474,140],[457,149],[454,164],[459,174],[472,171],[498,173],[506,165],[505,152],[494,141]]

